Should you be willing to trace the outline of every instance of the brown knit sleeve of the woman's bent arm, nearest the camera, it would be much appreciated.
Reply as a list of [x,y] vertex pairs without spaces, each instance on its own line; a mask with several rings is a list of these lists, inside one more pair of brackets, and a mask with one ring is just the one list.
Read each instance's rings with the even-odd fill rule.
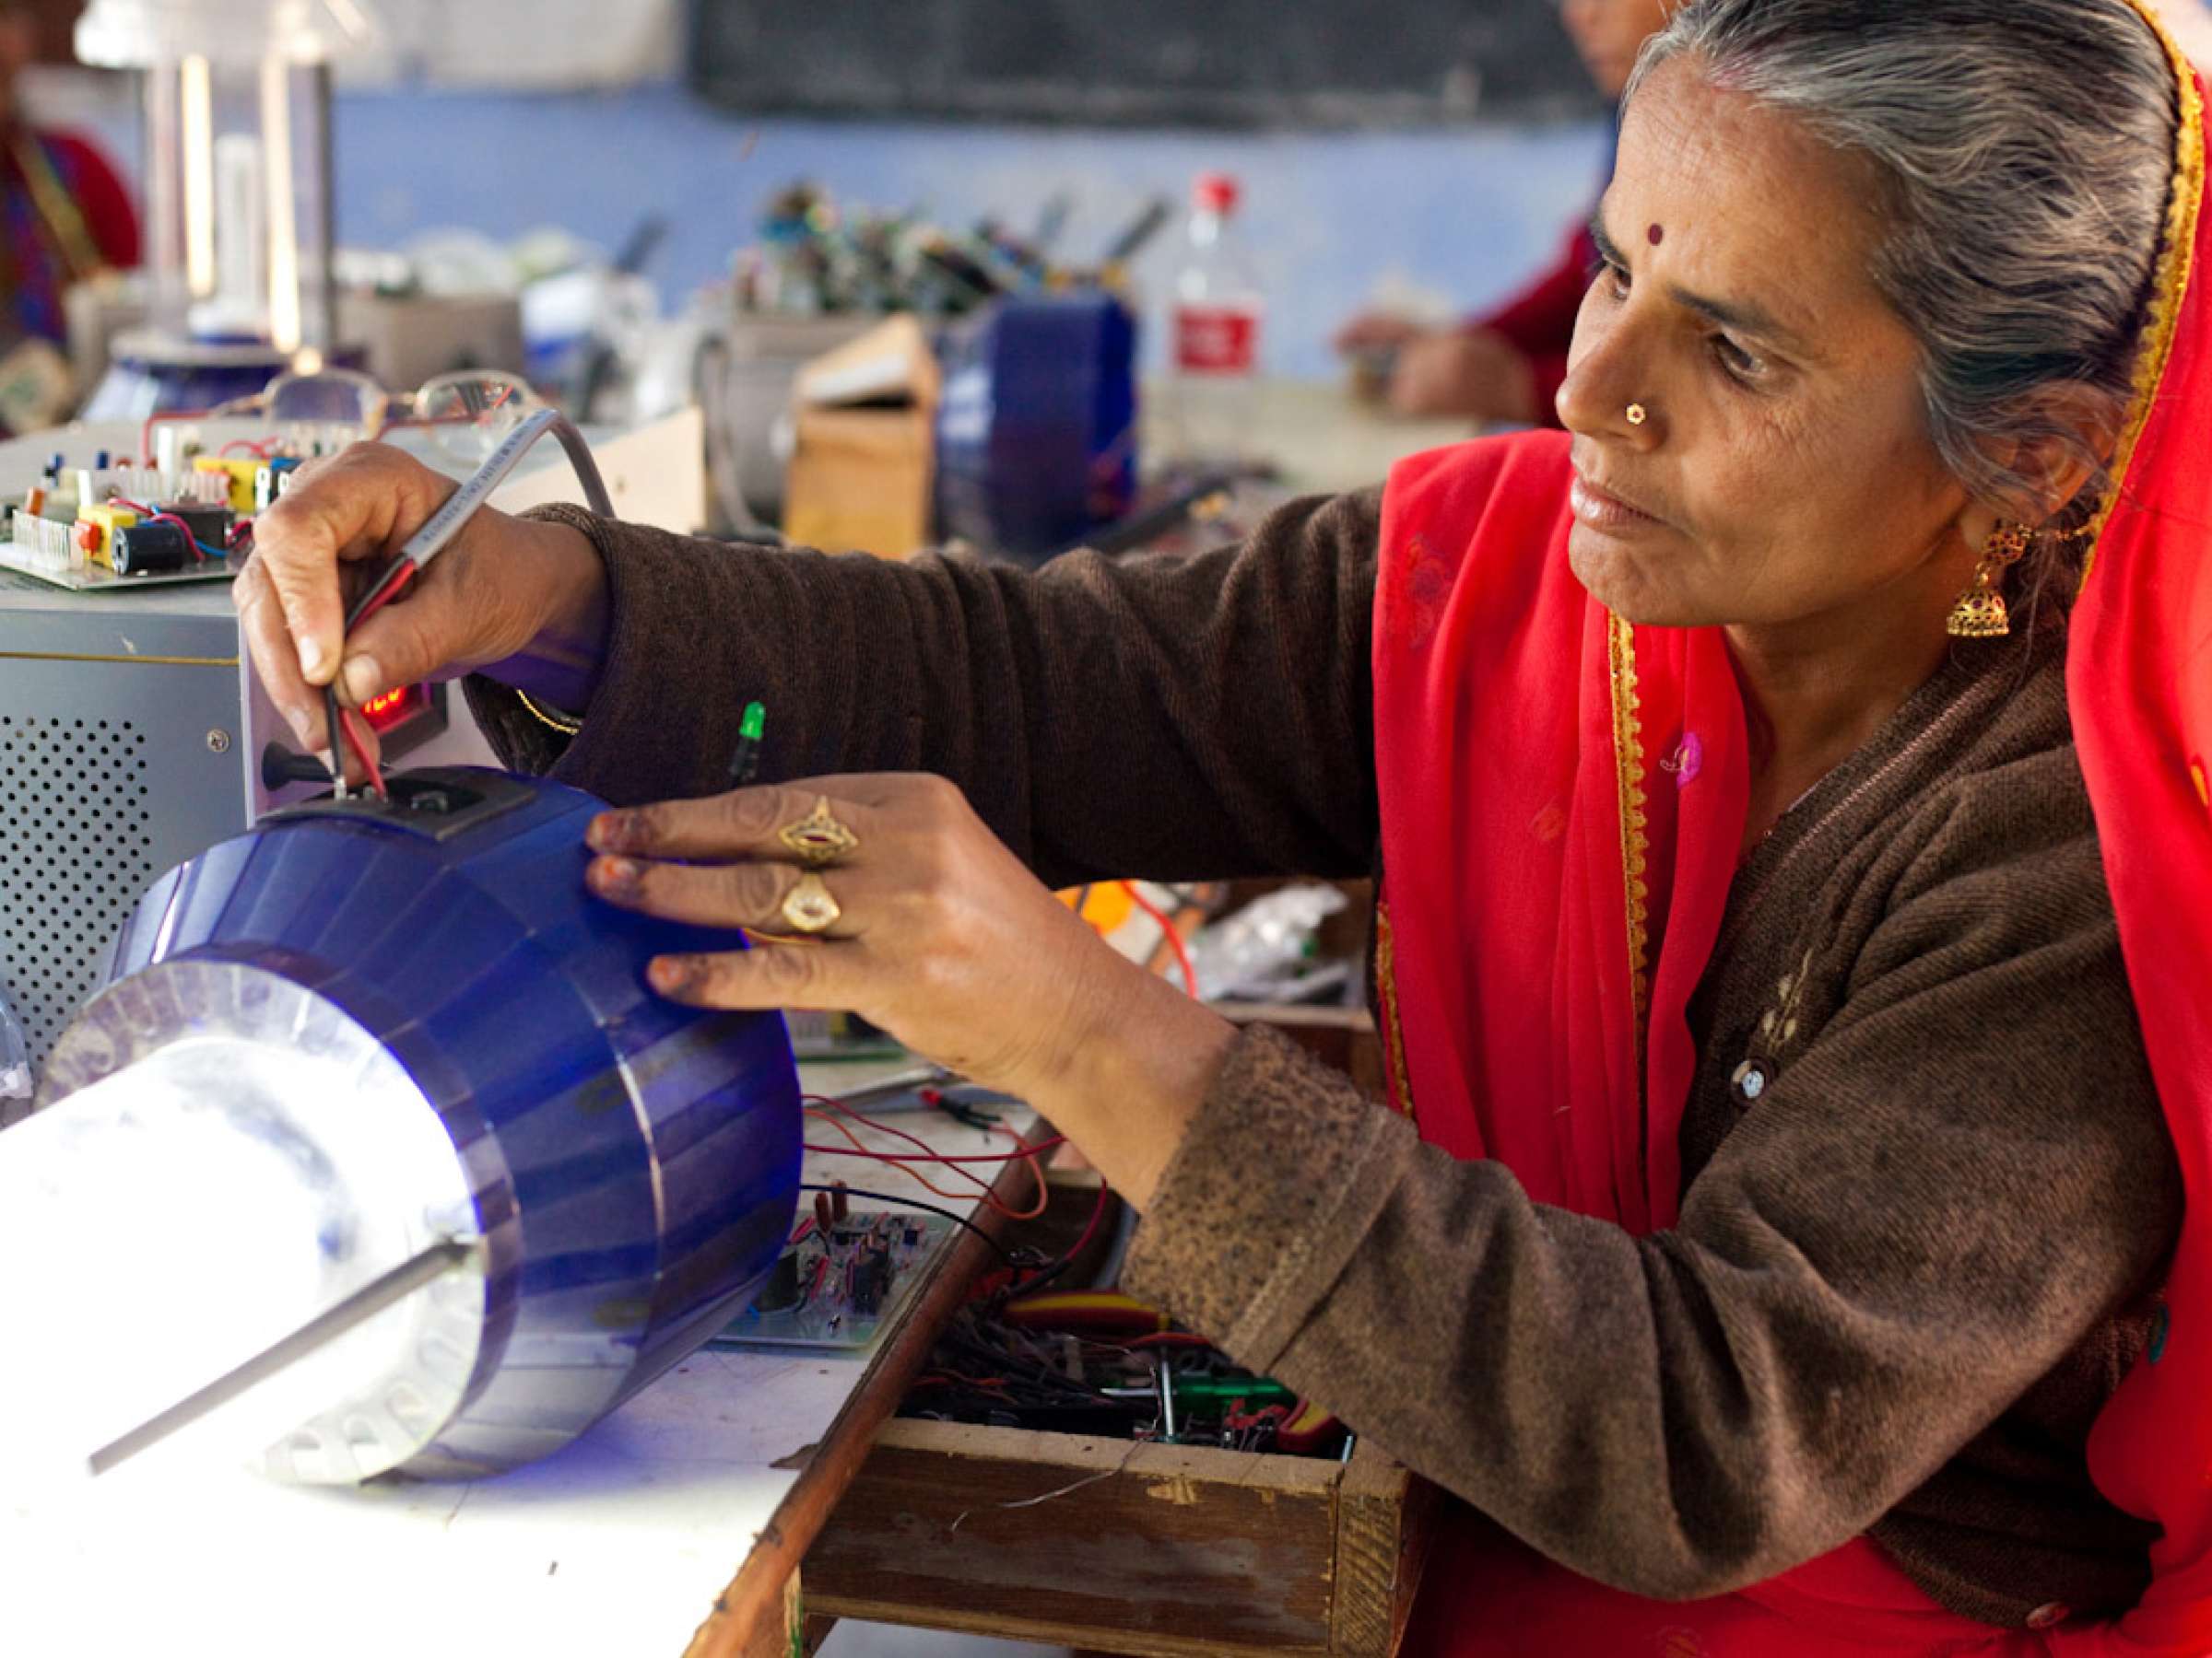
[[1248,1037],[1126,1284],[1584,1576],[1694,1598],[1825,1554],[2179,1229],[2086,800],[2033,807],[1929,836],[1674,1229],[1533,1203]]

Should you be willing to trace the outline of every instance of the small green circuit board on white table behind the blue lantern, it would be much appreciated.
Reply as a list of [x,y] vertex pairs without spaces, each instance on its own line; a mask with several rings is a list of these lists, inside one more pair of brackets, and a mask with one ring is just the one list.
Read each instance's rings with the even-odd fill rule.
[[863,1353],[953,1231],[940,1216],[852,1209],[827,1231],[801,1225],[752,1307],[708,1346]]

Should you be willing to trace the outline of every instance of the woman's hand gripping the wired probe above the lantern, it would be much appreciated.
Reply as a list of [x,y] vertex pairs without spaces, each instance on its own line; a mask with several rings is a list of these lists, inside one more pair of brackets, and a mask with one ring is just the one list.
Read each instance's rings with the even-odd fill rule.
[[584,683],[606,628],[597,550],[566,524],[489,506],[341,652],[345,606],[456,489],[400,449],[354,444],[307,462],[254,520],[254,555],[232,601],[254,672],[310,749],[330,749],[323,688],[334,676],[347,707],[394,685],[540,652],[549,665],[575,665]]

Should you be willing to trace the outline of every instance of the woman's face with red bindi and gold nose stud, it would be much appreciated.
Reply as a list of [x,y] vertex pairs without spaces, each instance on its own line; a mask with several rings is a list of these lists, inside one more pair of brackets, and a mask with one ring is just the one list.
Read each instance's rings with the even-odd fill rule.
[[1617,615],[1940,615],[1964,588],[1969,497],[1929,440],[1913,338],[1867,270],[1871,199],[1860,161],[1688,60],[1639,88],[1559,389],[1575,575]]

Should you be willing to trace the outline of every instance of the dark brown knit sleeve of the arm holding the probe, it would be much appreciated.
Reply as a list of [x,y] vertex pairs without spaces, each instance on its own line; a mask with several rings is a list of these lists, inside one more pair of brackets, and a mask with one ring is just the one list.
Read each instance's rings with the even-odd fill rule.
[[1042,570],[726,546],[549,508],[599,550],[608,648],[564,741],[469,681],[509,765],[617,805],[936,772],[1046,880],[1360,875],[1374,862],[1380,491],[1274,513],[1199,557]]

